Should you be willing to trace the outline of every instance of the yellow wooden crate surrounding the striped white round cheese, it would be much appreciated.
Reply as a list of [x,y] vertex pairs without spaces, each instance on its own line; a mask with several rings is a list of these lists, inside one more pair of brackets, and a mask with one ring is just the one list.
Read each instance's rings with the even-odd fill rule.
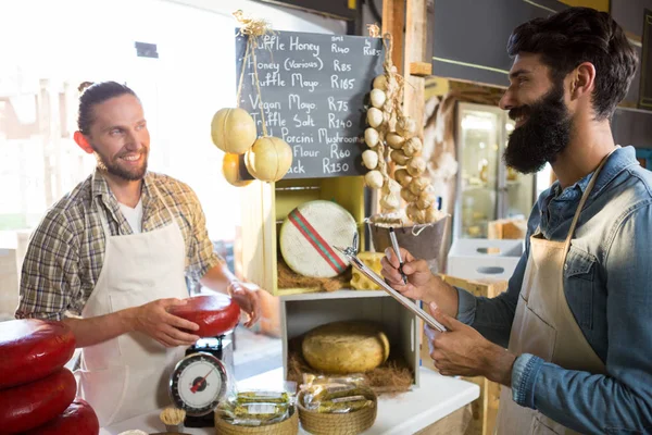
[[[317,199],[347,209],[364,237],[364,181],[362,176],[254,181],[242,187],[242,274],[274,296],[314,293],[315,288],[278,288],[278,232],[297,207]],[[364,240],[361,239],[361,246]]]

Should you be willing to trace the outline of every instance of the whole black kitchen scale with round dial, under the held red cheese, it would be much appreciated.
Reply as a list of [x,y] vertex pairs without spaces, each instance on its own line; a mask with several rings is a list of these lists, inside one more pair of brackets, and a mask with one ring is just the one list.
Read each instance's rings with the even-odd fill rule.
[[170,377],[170,397],[186,411],[186,427],[214,427],[215,408],[228,386],[227,364],[222,361],[224,336],[202,338],[186,350]]

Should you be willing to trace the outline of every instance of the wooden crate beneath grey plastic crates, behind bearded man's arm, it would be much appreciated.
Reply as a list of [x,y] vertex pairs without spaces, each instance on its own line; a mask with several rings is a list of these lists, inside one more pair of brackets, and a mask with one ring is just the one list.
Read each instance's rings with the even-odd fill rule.
[[[474,296],[493,298],[507,288],[506,281],[471,281],[450,275],[441,275],[441,277],[448,284],[463,288]],[[421,347],[422,365],[437,370],[430,358],[427,340],[428,338],[423,334]],[[464,380],[473,382],[480,387],[480,397],[472,402],[473,419],[466,435],[492,435],[500,401],[500,384],[490,382],[484,376],[464,377]]]

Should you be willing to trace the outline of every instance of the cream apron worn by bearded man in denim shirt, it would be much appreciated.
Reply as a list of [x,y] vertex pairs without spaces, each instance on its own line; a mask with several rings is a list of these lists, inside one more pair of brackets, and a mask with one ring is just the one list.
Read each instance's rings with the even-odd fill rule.
[[[611,153],[610,153],[611,156]],[[531,353],[567,370],[605,373],[605,366],[587,341],[564,295],[564,265],[570,240],[589,194],[609,156],[595,170],[587,186],[566,239],[552,241],[541,233],[530,237],[530,250],[510,334],[509,350]],[[577,434],[539,411],[518,406],[512,388],[501,387],[496,423],[498,435]]]

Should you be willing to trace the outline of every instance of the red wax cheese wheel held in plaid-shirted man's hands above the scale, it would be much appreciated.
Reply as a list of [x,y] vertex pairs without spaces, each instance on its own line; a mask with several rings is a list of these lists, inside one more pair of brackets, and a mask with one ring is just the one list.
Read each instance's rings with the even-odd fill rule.
[[170,313],[199,325],[192,334],[200,337],[215,337],[231,331],[240,319],[240,307],[226,296],[196,296],[186,299],[185,306],[170,309]]

